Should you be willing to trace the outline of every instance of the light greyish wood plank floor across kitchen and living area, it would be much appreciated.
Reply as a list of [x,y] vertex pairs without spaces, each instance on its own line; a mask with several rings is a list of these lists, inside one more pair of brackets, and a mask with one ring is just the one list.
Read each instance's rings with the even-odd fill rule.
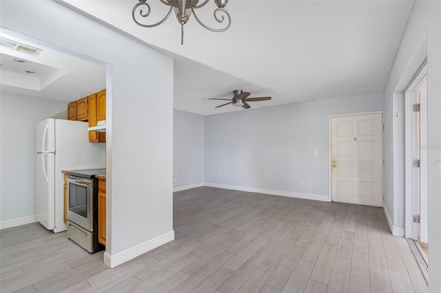
[[201,187],[176,240],[112,270],[39,224],[1,230],[1,292],[425,292],[382,208]]

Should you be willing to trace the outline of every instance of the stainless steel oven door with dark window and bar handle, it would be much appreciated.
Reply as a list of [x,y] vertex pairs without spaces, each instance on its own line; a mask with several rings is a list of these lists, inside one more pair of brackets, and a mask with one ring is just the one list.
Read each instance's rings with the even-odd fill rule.
[[93,180],[68,177],[68,220],[90,232],[93,231],[93,187]]

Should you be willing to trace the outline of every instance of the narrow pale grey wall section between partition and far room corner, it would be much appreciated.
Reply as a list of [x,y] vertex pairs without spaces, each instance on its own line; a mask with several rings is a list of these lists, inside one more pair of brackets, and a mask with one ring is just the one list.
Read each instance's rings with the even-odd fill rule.
[[204,116],[173,110],[173,187],[204,182]]

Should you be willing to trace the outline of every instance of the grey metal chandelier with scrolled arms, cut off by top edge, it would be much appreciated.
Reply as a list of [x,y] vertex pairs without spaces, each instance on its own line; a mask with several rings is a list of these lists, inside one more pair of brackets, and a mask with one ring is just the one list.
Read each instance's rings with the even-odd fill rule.
[[[174,9],[176,13],[176,18],[178,19],[178,22],[181,23],[181,45],[184,44],[184,25],[187,23],[189,17],[194,14],[194,18],[200,25],[202,25],[207,30],[211,30],[212,32],[225,32],[225,30],[228,30],[229,25],[232,23],[232,19],[229,16],[229,13],[227,10],[225,10],[225,6],[227,5],[228,0],[214,0],[214,3],[216,3],[216,10],[214,10],[214,19],[218,21],[219,23],[222,23],[224,21],[224,13],[227,16],[227,26],[225,28],[210,28],[209,26],[205,25],[200,19],[198,19],[195,10],[199,8],[203,8],[205,4],[209,2],[209,0],[205,0],[202,4],[198,5],[199,0],[160,0],[163,4],[166,6],[170,6],[170,9],[168,10],[168,13],[165,15],[161,21],[158,21],[157,23],[153,24],[143,24],[139,22],[136,19],[136,15],[138,15],[136,12],[139,10],[139,16],[141,17],[148,17],[150,15],[150,5],[147,3],[147,0],[139,0],[139,3],[137,3],[132,11],[132,17],[136,24],[141,25],[144,28],[153,28],[155,26],[160,25],[164,21],[170,17],[170,14],[172,14],[172,10]],[[145,8],[145,11],[143,10]]]

